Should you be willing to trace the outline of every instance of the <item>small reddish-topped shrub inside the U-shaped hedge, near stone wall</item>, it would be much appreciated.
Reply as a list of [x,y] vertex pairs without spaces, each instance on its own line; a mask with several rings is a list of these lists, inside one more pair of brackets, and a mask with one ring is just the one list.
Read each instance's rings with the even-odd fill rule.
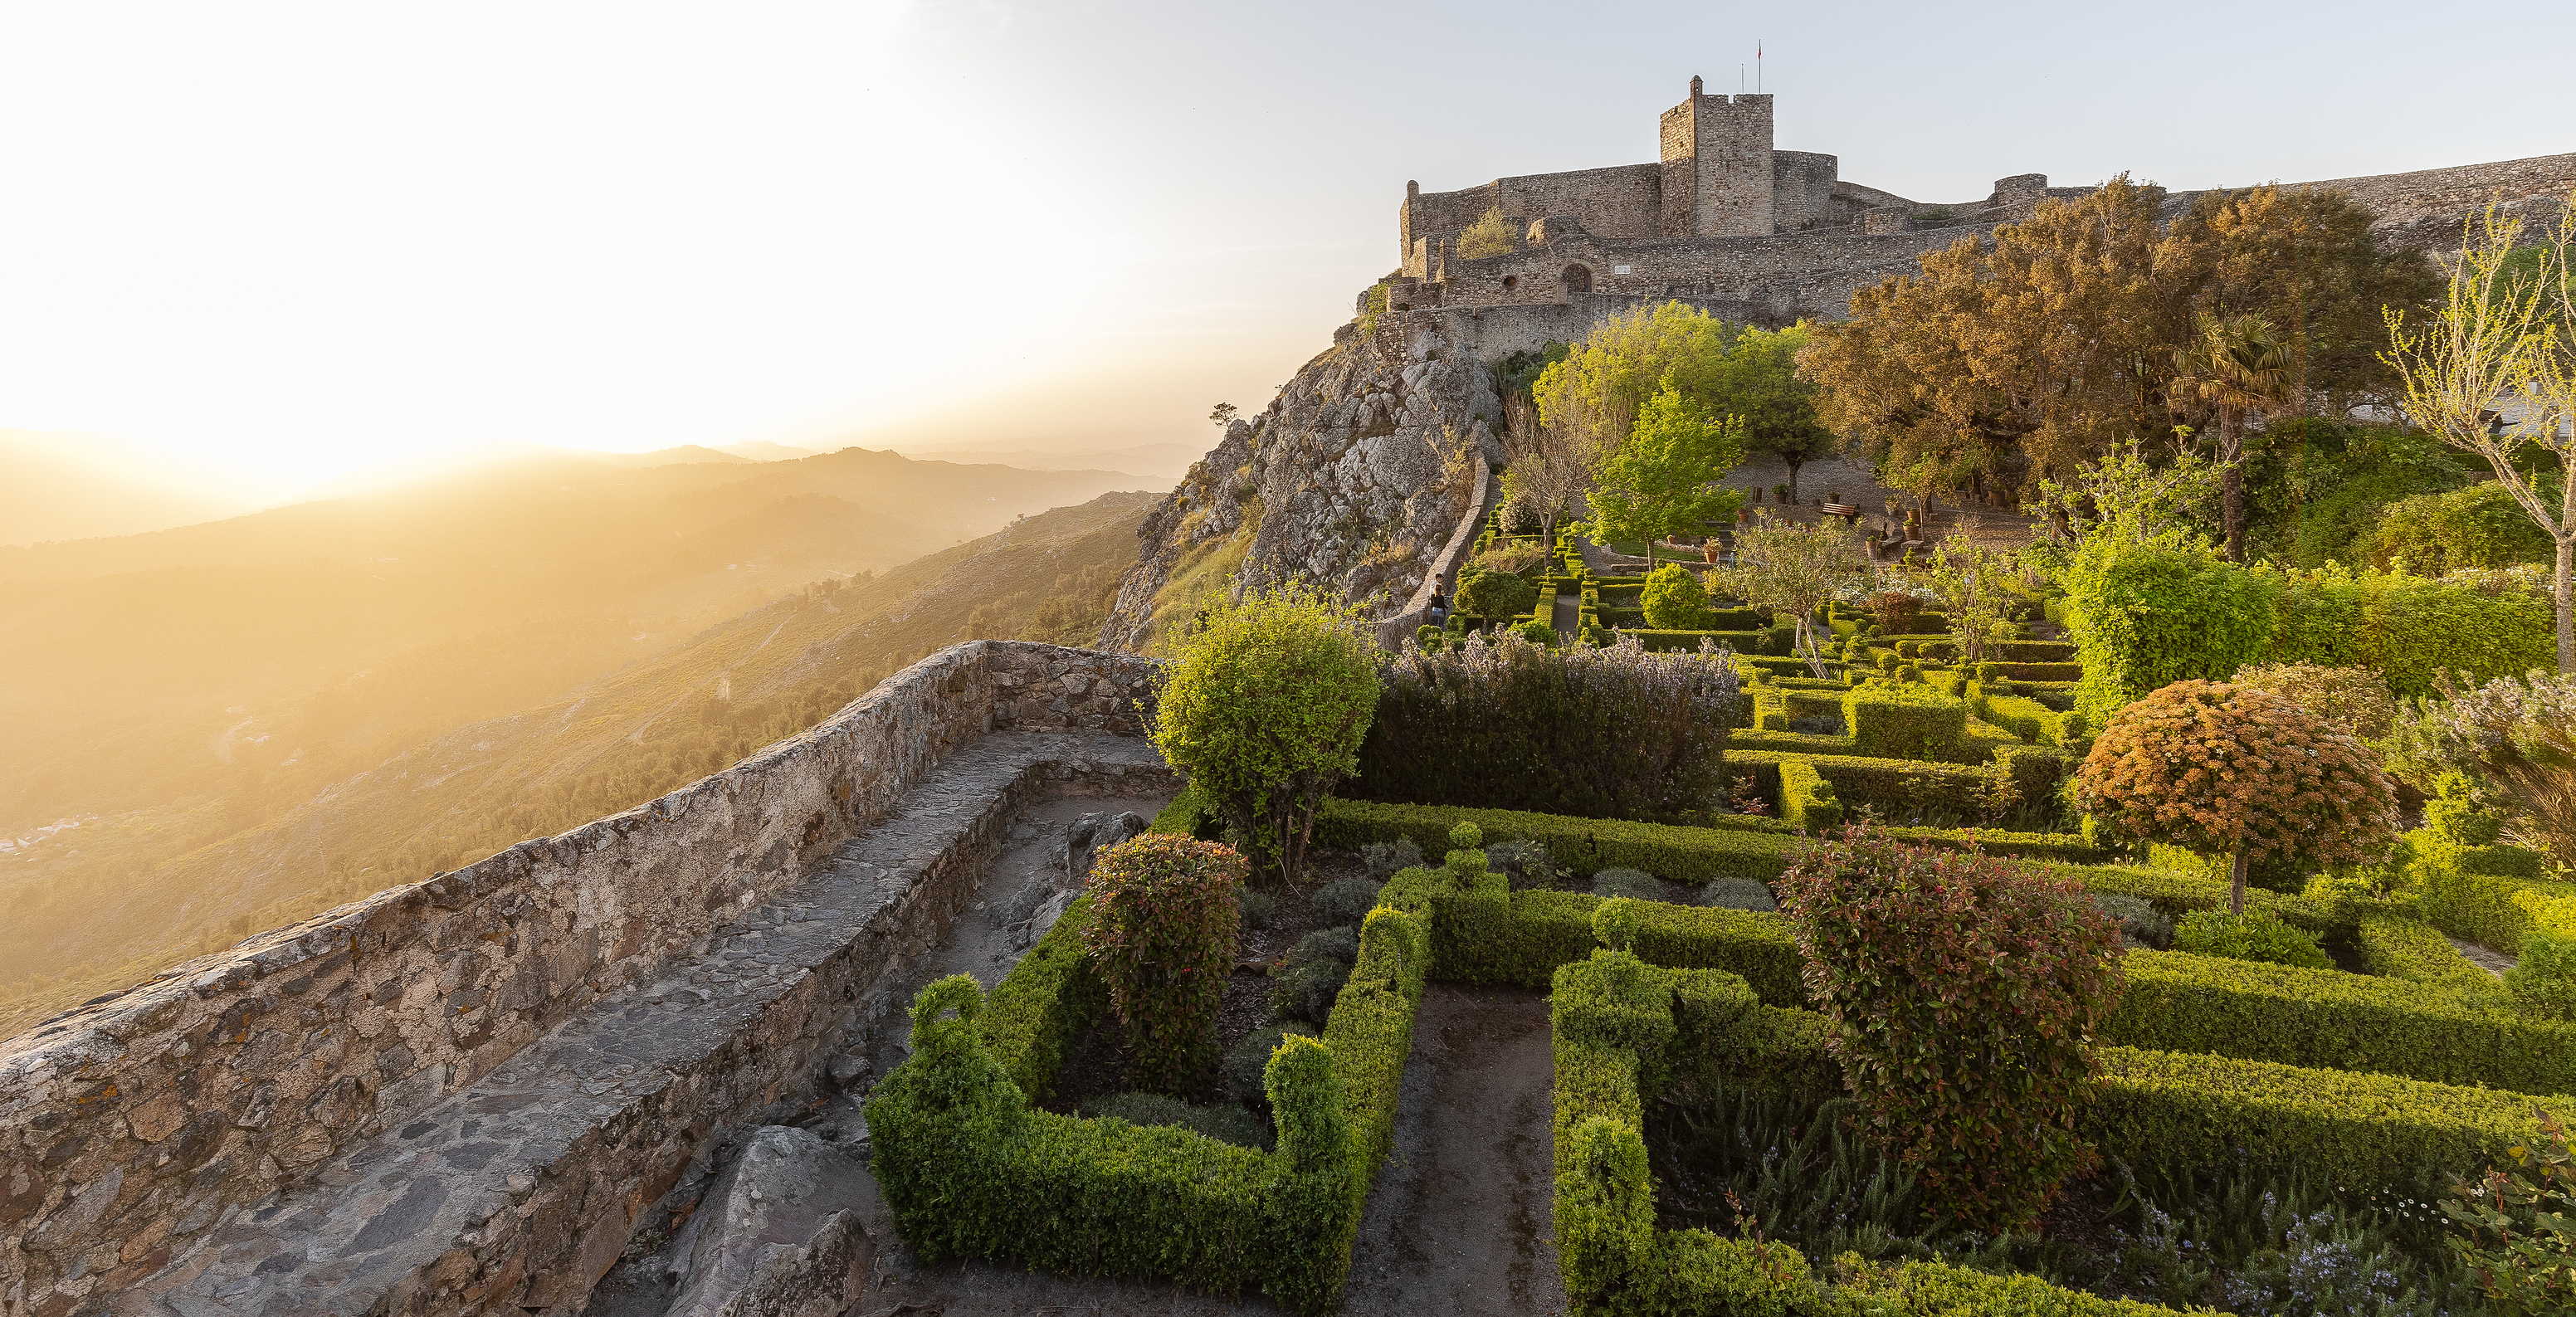
[[1190,1095],[1216,1064],[1216,1005],[1242,925],[1236,884],[1249,869],[1231,845],[1170,832],[1128,838],[1092,861],[1082,943],[1126,1026],[1128,1085]]

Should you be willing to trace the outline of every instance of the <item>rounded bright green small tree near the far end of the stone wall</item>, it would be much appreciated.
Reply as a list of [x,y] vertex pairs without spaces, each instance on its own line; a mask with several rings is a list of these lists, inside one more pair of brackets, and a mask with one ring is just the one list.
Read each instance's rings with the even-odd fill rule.
[[1376,644],[1352,608],[1283,585],[1211,608],[1177,647],[1154,747],[1265,874],[1293,881],[1314,812],[1360,768],[1378,711]]

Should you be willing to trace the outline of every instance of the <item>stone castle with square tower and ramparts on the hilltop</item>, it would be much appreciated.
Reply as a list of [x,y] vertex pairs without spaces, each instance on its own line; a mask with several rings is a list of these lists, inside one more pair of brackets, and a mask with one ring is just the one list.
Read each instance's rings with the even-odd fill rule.
[[[1680,299],[1754,325],[1826,320],[1844,314],[1857,289],[1917,271],[1924,253],[2092,191],[2050,188],[2045,173],[1996,178],[1968,201],[1844,183],[1837,157],[1772,144],[1770,95],[1708,95],[1698,77],[1664,111],[1659,142],[1654,165],[1497,178],[1450,193],[1406,183],[1401,265],[1360,294],[1360,312],[1383,289],[1378,309],[1445,312],[1445,330],[1479,356],[1579,338],[1638,302]],[[2344,191],[2378,216],[2385,240],[2439,250],[2488,198],[2555,204],[2571,183],[2576,155],[2295,186]],[[1486,214],[1502,216],[1510,250],[1466,255],[1461,237]]]

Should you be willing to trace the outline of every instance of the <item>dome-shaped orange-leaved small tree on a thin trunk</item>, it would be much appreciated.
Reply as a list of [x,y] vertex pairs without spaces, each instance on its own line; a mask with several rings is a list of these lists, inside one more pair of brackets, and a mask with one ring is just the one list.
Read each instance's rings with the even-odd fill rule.
[[2233,856],[2228,910],[2267,856],[2370,863],[2398,830],[2378,755],[2290,696],[2177,680],[2120,709],[2076,773],[2076,804],[2112,840]]

